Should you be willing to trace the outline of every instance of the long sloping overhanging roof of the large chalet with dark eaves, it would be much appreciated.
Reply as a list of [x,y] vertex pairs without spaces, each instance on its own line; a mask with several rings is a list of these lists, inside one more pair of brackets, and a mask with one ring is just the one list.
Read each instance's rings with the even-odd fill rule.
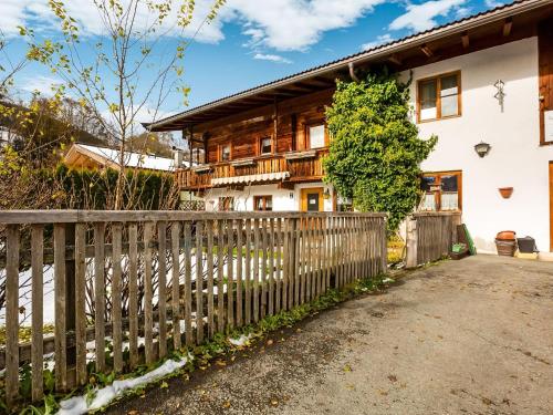
[[[377,45],[369,50],[358,52],[333,62],[328,62],[305,71],[271,81],[265,84],[238,92],[236,94],[221,97],[219,100],[206,103],[179,114],[168,116],[154,123],[143,123],[149,131],[177,131],[212,120],[233,115],[243,111],[259,107],[260,105],[271,104],[275,96],[293,96],[305,93],[309,87],[316,84],[320,87],[334,86],[333,76],[340,71],[347,72],[353,65],[367,65],[373,62],[389,60],[397,53],[404,53],[409,50],[421,48],[431,42],[445,38],[458,37],[459,33],[468,33],[487,24],[497,23],[502,19],[509,19],[525,12],[532,12],[539,9],[550,7],[553,0],[518,0],[508,4],[499,6],[494,9],[469,15],[467,18],[408,35],[393,42]],[[484,38],[489,33],[481,33]],[[460,43],[460,38],[456,39]]]

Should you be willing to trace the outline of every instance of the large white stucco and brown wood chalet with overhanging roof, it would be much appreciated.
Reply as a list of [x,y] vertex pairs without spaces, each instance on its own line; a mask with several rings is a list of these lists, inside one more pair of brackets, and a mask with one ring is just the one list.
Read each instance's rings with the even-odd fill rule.
[[[553,251],[553,0],[500,6],[148,128],[182,131],[205,154],[205,164],[179,168],[176,178],[208,209],[345,209],[323,181],[332,139],[325,105],[336,79],[383,64],[411,77],[420,137],[439,137],[422,163],[419,209],[462,211],[480,251],[494,252],[495,234],[505,229]],[[504,187],[512,196],[500,194]]]

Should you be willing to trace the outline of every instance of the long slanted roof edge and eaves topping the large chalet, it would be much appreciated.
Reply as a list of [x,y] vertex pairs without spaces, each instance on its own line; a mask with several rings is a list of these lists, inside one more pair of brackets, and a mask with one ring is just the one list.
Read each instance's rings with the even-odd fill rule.
[[[359,63],[366,64],[367,62],[383,59],[385,56],[390,56],[392,54],[415,48],[415,46],[420,46],[424,45],[427,42],[431,42],[432,40],[437,40],[440,38],[445,38],[455,33],[462,33],[466,32],[470,29],[478,28],[480,25],[494,22],[501,19],[507,19],[509,17],[531,11],[534,9],[543,8],[545,6],[552,4],[553,0],[518,0],[513,1],[508,4],[499,6],[494,9],[480,12],[478,14],[473,14],[460,20],[456,20],[453,22],[424,31],[419,33],[411,34],[409,37],[382,44],[375,48],[372,48],[369,50],[358,52],[345,58],[342,58],[340,60],[335,60],[328,63],[325,63],[323,65],[319,65],[315,68],[307,69],[305,71],[275,80],[271,81],[264,84],[261,84],[259,86],[244,90],[242,92],[238,92],[232,95],[228,95],[226,97],[221,97],[219,100],[212,101],[210,103],[206,103],[204,105],[197,106],[191,110],[187,110],[185,112],[181,112],[179,114],[163,118],[160,121],[154,122],[154,123],[144,123],[143,125],[150,129],[150,131],[171,131],[171,129],[178,129],[179,127],[185,127],[185,126],[190,126],[194,124],[202,123],[206,121],[209,121],[207,116],[207,113],[210,112],[211,117],[222,117],[227,114],[221,110],[225,105],[229,104],[236,104],[233,106],[233,111],[240,112],[240,111],[246,111],[247,105],[241,104],[241,101],[246,98],[251,98],[255,100],[257,96],[259,96],[261,93],[268,93],[272,92],[274,94],[279,94],[279,89],[283,89],[288,85],[305,81],[305,80],[311,80],[313,77],[317,76],[324,76],[328,75],[332,73],[335,73],[338,70],[347,70],[349,65],[355,65]],[[331,85],[328,85],[331,86]],[[268,98],[265,101],[262,101],[261,97],[258,97],[260,100],[258,102],[258,106],[265,102],[267,104],[270,103]],[[254,104],[253,102],[251,103],[252,105]],[[243,105],[243,110],[240,110],[240,105]],[[217,111],[216,111],[217,110]]]

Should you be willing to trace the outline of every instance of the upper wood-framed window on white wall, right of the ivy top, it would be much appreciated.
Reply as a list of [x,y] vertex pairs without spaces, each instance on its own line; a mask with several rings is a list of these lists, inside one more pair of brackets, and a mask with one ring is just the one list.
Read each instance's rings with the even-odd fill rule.
[[461,73],[418,82],[418,122],[461,115]]

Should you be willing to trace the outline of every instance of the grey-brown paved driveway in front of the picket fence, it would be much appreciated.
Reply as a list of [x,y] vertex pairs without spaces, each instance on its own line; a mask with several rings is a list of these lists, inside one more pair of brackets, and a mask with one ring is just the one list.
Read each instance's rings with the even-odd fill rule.
[[129,412],[553,414],[553,263],[478,256],[411,272],[111,409]]

